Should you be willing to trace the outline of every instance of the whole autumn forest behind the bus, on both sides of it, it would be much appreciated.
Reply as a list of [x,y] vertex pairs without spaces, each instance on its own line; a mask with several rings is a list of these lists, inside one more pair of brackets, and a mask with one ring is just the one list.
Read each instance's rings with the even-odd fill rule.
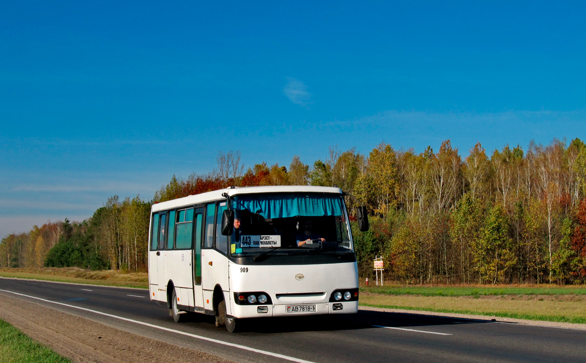
[[214,172],[173,176],[151,201],[114,196],[70,232],[67,222],[9,235],[0,262],[145,270],[152,203],[230,185],[335,185],[371,212],[369,232],[353,229],[361,276],[383,255],[388,277],[410,283],[583,283],[585,146],[554,140],[487,154],[478,143],[462,159],[449,140],[420,154],[382,143],[369,155],[332,147],[311,167],[294,157],[246,172],[240,152],[220,152]]

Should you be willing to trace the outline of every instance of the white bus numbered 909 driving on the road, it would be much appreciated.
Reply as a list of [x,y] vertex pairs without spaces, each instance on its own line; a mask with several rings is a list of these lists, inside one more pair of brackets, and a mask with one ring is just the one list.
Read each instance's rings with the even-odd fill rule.
[[[352,233],[339,188],[226,188],[151,208],[149,296],[176,322],[358,310]],[[358,208],[361,230],[366,208]]]

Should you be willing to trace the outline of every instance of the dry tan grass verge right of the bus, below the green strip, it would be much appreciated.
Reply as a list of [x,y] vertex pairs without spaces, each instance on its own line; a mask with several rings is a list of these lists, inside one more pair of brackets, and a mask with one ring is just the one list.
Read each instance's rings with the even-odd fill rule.
[[[547,298],[547,300],[546,300]],[[494,315],[529,320],[586,323],[586,297],[552,296],[414,296],[362,293],[364,306],[441,313]]]

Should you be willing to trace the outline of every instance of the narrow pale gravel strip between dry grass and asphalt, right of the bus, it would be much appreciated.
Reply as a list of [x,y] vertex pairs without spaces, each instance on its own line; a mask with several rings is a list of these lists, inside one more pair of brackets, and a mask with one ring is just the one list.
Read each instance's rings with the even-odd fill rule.
[[358,308],[360,310],[384,311],[386,313],[404,313],[404,314],[445,316],[445,317],[461,318],[461,319],[472,319],[472,320],[483,320],[483,321],[496,321],[496,322],[500,322],[500,323],[515,323],[515,324],[526,324],[526,325],[538,325],[540,327],[556,327],[556,328],[568,328],[568,329],[581,329],[581,330],[586,330],[586,324],[560,323],[560,322],[557,322],[557,321],[526,320],[526,319],[505,318],[505,317],[488,316],[488,315],[437,313],[435,311],[390,309],[390,308],[364,306],[364,305],[360,305]]

